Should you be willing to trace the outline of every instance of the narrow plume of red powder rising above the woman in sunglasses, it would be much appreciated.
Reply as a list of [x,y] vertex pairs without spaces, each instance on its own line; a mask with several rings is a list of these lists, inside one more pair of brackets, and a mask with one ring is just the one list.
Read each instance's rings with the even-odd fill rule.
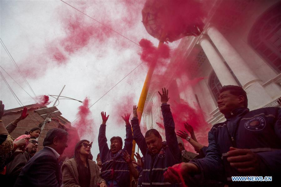
[[93,132],[94,130],[94,121],[92,119],[92,112],[89,108],[89,99],[86,97],[83,101],[83,105],[79,106],[77,117],[78,120],[73,124],[78,131],[78,135],[83,139],[85,135],[91,135],[91,137],[95,137]]

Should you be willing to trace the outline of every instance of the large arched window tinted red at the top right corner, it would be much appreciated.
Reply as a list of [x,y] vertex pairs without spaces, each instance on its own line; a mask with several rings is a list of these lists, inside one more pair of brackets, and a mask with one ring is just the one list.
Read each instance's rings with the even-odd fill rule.
[[274,4],[253,25],[248,42],[275,71],[281,72],[281,2]]

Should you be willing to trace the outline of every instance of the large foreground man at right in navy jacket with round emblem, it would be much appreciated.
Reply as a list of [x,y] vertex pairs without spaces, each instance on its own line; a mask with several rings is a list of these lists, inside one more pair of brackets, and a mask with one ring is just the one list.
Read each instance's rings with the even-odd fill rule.
[[[174,172],[177,169],[182,175],[190,174],[187,177],[200,174],[206,180],[223,180],[235,186],[280,183],[277,177],[281,173],[281,109],[267,107],[249,111],[247,106],[247,95],[241,87],[223,86],[218,108],[226,121],[210,130],[206,157],[174,165],[164,174],[165,178],[178,181]],[[234,176],[272,176],[272,182],[235,182]]]

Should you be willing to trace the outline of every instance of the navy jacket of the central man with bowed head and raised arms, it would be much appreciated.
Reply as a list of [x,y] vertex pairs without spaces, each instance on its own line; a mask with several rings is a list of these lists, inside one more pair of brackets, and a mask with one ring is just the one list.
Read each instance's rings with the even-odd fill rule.
[[162,114],[164,120],[164,128],[166,141],[158,155],[153,155],[146,145],[143,134],[141,133],[138,119],[133,118],[133,138],[138,144],[142,154],[144,155],[143,173],[139,180],[140,185],[145,186],[165,186],[172,187],[172,185],[164,181],[164,172],[168,170],[169,166],[178,164],[181,160],[180,150],[178,148],[178,140],[175,133],[175,123],[170,110],[170,105],[162,105]]

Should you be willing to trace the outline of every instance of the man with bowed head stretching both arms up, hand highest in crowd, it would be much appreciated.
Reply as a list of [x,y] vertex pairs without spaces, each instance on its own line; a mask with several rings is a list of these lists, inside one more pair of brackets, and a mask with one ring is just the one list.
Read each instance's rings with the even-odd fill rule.
[[132,119],[133,138],[138,144],[142,154],[144,155],[143,174],[139,180],[141,186],[179,186],[164,181],[164,172],[169,166],[177,164],[181,160],[180,150],[178,148],[177,136],[175,133],[175,123],[167,104],[168,90],[162,89],[161,109],[163,114],[166,141],[162,140],[161,135],[156,129],[150,129],[145,133],[145,137],[140,131],[138,124],[137,110],[134,110]]

